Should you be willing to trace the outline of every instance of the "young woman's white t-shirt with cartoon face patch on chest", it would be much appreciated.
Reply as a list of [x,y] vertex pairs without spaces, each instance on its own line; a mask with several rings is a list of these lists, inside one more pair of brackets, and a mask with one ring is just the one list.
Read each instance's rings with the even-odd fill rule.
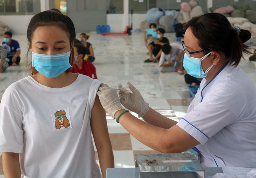
[[84,75],[63,88],[31,76],[11,84],[0,106],[0,152],[20,153],[25,177],[101,178],[90,128],[100,84]]

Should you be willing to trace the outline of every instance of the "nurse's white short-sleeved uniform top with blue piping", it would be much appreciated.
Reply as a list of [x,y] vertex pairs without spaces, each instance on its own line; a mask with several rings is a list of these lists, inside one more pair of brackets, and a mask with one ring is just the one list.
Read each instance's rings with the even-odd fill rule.
[[256,165],[256,87],[240,67],[203,79],[177,125],[200,142],[202,166]]

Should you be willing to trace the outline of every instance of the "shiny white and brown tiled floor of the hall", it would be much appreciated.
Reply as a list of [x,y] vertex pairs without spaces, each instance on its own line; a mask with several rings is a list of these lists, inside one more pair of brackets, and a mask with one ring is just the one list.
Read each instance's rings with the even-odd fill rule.
[[[78,33],[79,35],[79,33]],[[78,36],[77,35],[77,36]],[[175,42],[175,34],[166,34],[170,42]],[[28,46],[26,35],[13,35],[21,45],[21,66],[9,67],[0,74],[0,99],[5,89],[12,83],[28,75],[25,54]],[[133,83],[152,108],[171,119],[180,119],[185,115],[192,98],[189,97],[183,75],[159,72],[158,63],[143,63],[148,58],[142,33],[131,36],[102,36],[90,33],[88,40],[93,44],[98,79],[111,87],[118,83]],[[256,84],[255,63],[241,61],[239,66]],[[134,114],[136,116],[136,114]],[[108,131],[115,157],[115,167],[134,167],[134,154],[156,153],[151,148],[137,141],[123,127],[107,115]],[[0,153],[1,155],[1,153]],[[0,178],[2,175],[0,157]]]

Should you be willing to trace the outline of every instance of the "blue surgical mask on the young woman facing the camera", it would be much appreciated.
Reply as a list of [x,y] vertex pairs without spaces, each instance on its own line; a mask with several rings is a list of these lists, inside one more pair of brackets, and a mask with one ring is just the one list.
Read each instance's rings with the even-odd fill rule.
[[55,55],[32,52],[32,66],[45,77],[54,78],[71,67],[69,64],[69,55],[70,51]]

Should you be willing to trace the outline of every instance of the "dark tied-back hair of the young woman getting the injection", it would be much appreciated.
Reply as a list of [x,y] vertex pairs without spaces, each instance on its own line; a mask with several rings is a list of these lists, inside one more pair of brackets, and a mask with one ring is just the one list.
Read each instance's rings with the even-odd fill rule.
[[[69,17],[63,15],[59,10],[54,8],[48,11],[35,14],[30,20],[28,24],[28,30],[27,30],[27,38],[30,43],[30,47],[28,48],[28,52],[27,52],[27,57],[31,48],[31,41],[32,41],[35,29],[39,26],[51,26],[51,25],[57,26],[67,32],[67,35],[69,37],[70,48],[72,49],[71,54],[69,56],[69,63],[72,66],[74,63],[74,50],[73,50],[72,43],[76,38],[76,29],[74,27],[72,20]],[[38,71],[34,67],[32,67],[32,63],[30,63],[29,65],[31,66],[31,75],[38,73]],[[66,72],[69,72],[70,69],[71,68],[67,69]]]

